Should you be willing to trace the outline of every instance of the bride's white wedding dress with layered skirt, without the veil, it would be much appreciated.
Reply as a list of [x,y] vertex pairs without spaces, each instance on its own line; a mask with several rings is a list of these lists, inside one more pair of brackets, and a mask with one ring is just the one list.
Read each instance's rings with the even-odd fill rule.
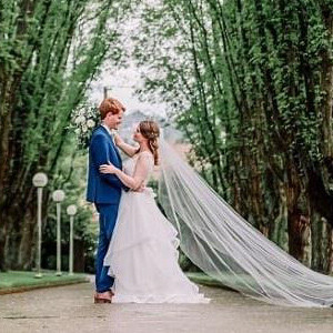
[[[144,154],[144,183],[153,171],[153,158]],[[133,175],[140,157],[124,162]],[[123,192],[118,221],[104,259],[114,276],[114,303],[209,303],[179,266],[179,239],[174,226],[159,210],[152,189]]]

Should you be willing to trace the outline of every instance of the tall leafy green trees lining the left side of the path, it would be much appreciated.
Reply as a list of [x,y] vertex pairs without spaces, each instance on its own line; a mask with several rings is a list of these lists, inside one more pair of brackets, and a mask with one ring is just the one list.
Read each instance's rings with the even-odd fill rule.
[[[71,111],[104,58],[121,56],[122,12],[114,4],[0,1],[0,270],[33,266],[32,176],[43,171],[48,188],[56,185],[64,148],[72,144],[67,129]],[[46,194],[44,203],[50,192]]]

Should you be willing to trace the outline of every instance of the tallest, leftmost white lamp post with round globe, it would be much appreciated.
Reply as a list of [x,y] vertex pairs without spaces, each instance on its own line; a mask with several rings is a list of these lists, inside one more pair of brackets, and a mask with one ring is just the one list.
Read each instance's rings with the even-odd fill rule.
[[42,193],[43,188],[48,183],[48,176],[43,172],[38,172],[32,178],[32,184],[37,188],[37,224],[38,224],[38,243],[37,243],[37,254],[36,254],[36,263],[37,263],[37,274],[34,278],[42,278],[41,274],[41,203],[42,203]]

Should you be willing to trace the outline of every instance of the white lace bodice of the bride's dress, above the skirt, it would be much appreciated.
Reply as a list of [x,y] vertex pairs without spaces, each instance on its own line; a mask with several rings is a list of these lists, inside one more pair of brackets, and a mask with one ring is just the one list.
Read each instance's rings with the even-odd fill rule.
[[123,172],[131,176],[140,175],[143,179],[143,185],[147,185],[153,169],[154,159],[148,151],[138,153],[123,163]]

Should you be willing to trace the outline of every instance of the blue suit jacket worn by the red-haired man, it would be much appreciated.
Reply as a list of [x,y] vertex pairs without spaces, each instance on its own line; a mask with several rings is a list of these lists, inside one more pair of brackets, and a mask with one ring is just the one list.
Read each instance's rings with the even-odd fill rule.
[[122,161],[111,135],[102,125],[98,127],[90,139],[87,201],[118,204],[121,189],[127,189],[114,174],[99,171],[101,164],[111,162],[122,169]]

